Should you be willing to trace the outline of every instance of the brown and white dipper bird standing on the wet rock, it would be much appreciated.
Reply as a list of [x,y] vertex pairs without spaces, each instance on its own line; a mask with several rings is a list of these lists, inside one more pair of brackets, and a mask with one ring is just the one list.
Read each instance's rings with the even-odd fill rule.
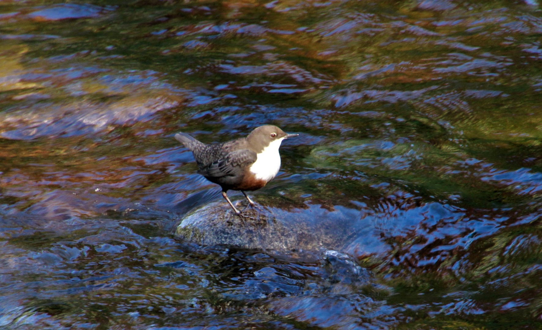
[[205,144],[186,133],[177,133],[175,138],[194,154],[198,173],[220,184],[222,196],[239,215],[241,212],[228,198],[228,190],[241,190],[250,205],[254,205],[245,192],[262,188],[279,173],[280,144],[285,138],[298,135],[287,134],[274,125],[263,125],[247,137],[224,143]]

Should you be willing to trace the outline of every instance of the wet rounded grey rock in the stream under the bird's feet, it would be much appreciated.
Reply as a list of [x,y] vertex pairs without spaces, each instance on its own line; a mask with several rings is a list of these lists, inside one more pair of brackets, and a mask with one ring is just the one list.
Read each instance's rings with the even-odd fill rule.
[[351,240],[351,225],[356,219],[359,219],[357,210],[344,208],[330,212],[319,205],[292,210],[246,207],[237,216],[225,202],[215,202],[183,217],[176,235],[200,245],[279,251],[340,249]]

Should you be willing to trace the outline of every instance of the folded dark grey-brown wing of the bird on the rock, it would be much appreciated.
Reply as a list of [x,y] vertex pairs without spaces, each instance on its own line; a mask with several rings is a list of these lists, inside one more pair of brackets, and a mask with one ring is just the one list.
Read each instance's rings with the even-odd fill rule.
[[198,173],[211,177],[241,174],[244,167],[253,164],[257,157],[254,151],[248,149],[232,151],[210,163],[209,166],[200,168]]

